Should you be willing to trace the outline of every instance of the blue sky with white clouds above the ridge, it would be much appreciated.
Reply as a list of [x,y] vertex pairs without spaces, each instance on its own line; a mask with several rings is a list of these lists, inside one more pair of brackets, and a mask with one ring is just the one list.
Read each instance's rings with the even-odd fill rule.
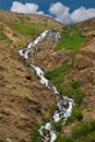
[[0,9],[47,14],[66,24],[95,17],[95,0],[0,0]]

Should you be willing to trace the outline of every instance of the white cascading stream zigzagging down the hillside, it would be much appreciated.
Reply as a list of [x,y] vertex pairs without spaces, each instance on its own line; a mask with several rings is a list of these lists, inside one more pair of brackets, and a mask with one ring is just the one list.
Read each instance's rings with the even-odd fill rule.
[[[20,55],[23,56],[25,59],[29,60],[28,54],[31,48],[36,49],[36,45],[45,37],[52,37],[55,40],[58,40],[60,38],[60,32],[54,31],[54,29],[47,29],[44,33],[41,33],[34,42],[31,42],[25,48],[19,50]],[[35,64],[31,64],[31,67],[35,70],[36,75],[39,76],[39,82],[44,85],[46,85],[49,90],[51,90],[52,95],[56,95],[57,97],[57,110],[54,114],[54,117],[50,122],[47,122],[45,126],[41,126],[39,131],[39,134],[44,142],[55,142],[57,139],[57,132],[52,129],[51,122],[58,122],[59,120],[63,119],[63,123],[66,123],[66,120],[72,113],[72,106],[73,106],[73,99],[69,98],[67,96],[61,95],[56,86],[54,86],[49,80],[47,80],[44,76],[44,71],[36,67]],[[46,131],[46,132],[45,132]],[[47,133],[47,134],[45,134]]]

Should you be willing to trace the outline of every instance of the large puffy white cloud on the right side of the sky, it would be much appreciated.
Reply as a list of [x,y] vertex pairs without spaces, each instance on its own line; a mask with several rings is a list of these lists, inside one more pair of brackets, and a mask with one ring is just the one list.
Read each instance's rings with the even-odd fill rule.
[[70,13],[70,8],[63,5],[61,2],[51,4],[49,12],[56,15],[56,20],[64,24],[76,23],[95,17],[95,9],[85,9],[84,7],[80,7]]

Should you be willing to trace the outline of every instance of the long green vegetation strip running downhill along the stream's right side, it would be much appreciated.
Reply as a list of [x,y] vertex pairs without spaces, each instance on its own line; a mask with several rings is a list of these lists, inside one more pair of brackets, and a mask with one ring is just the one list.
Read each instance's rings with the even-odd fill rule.
[[[73,69],[73,58],[75,54],[79,51],[80,46],[84,43],[85,37],[81,33],[80,24],[68,25],[63,27],[63,31],[61,33],[61,39],[59,40],[58,45],[54,48],[54,50],[70,50],[70,55],[60,68],[48,71],[45,74],[46,78],[49,79],[57,86],[58,91],[61,94],[73,97],[74,99],[75,105],[73,106],[71,117],[67,120],[68,126],[75,121],[78,121],[78,123],[81,123],[81,120],[83,119],[83,115],[81,111],[83,109],[82,100],[85,94],[82,92],[81,84],[79,81],[73,82],[69,79],[69,73]],[[63,81],[63,78],[68,79],[67,82]],[[82,131],[84,126],[81,127],[80,131]],[[74,131],[78,131],[78,127],[75,128],[75,130],[72,130],[72,133],[74,133]],[[73,138],[73,134],[71,135],[71,138],[62,138],[59,135],[56,142],[91,142],[95,140],[94,133],[95,129],[93,130],[93,132],[88,131],[86,134],[84,132],[82,137],[76,139]]]

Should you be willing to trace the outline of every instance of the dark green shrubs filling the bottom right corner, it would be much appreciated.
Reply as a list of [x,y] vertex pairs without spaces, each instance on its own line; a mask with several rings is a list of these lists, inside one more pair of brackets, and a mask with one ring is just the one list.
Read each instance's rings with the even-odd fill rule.
[[55,142],[95,142],[95,120],[75,127],[70,138],[58,135]]

